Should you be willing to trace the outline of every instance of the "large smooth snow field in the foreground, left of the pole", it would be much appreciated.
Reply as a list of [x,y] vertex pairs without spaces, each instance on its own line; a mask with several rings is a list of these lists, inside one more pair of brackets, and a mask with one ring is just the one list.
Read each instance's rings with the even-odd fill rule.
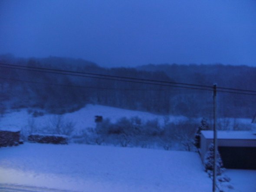
[[0,148],[0,186],[81,192],[210,192],[194,152],[84,144]]

